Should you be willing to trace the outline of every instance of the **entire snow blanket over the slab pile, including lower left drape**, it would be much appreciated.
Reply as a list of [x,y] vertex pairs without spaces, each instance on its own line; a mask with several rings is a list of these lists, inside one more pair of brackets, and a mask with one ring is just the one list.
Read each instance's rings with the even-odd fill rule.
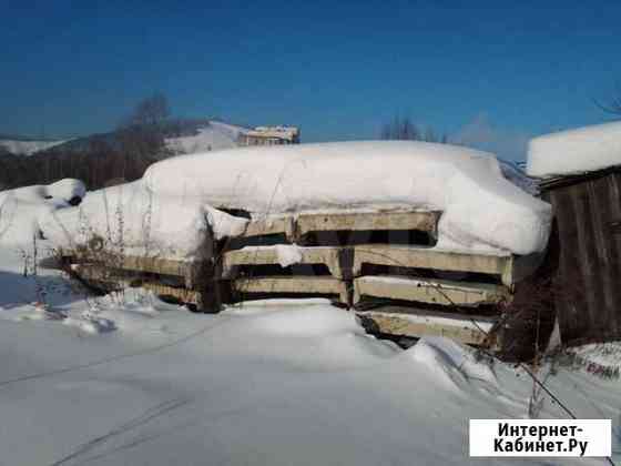
[[[77,209],[42,220],[57,244],[93,231],[129,247],[193,256],[206,219],[217,236],[246,220],[301,211],[440,210],[437,249],[505,255],[544,250],[551,207],[502,175],[491,154],[423,142],[343,142],[244,148],[176,156],[142,180],[89,193]],[[217,219],[216,219],[217,217]],[[149,244],[147,244],[149,243]]]

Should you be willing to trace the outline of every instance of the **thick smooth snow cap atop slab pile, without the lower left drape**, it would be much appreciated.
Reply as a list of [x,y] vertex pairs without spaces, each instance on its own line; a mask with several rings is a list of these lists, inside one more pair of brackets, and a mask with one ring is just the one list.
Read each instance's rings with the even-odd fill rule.
[[411,141],[243,148],[172,158],[143,178],[153,194],[253,216],[342,209],[439,210],[440,244],[529,254],[550,205],[507,181],[491,154]]

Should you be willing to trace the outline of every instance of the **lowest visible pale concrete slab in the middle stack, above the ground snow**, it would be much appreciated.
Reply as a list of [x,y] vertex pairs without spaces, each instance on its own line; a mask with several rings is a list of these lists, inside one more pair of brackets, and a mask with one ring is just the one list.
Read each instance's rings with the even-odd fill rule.
[[233,288],[242,293],[327,294],[338,295],[348,304],[345,282],[329,276],[261,276],[236,278]]

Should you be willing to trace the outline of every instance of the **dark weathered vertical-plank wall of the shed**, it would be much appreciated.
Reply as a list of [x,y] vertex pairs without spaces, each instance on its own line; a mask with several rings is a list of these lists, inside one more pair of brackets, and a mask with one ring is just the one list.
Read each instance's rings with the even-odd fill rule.
[[567,344],[621,338],[621,170],[542,184],[558,226],[557,315]]

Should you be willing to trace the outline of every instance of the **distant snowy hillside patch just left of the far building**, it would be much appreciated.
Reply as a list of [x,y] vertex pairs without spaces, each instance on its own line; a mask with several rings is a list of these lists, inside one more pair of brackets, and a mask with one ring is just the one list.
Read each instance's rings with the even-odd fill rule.
[[198,128],[198,134],[166,138],[166,145],[175,154],[222,151],[236,148],[237,138],[245,131],[243,126],[212,120],[207,126]]

